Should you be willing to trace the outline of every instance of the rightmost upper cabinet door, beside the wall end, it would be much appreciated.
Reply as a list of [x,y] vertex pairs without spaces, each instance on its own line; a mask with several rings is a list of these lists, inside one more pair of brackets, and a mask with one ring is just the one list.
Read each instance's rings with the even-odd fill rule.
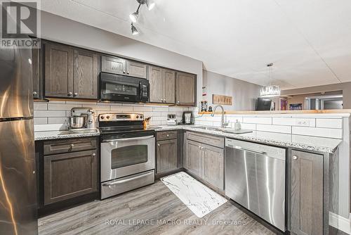
[[177,72],[176,78],[176,98],[178,105],[195,105],[195,75]]

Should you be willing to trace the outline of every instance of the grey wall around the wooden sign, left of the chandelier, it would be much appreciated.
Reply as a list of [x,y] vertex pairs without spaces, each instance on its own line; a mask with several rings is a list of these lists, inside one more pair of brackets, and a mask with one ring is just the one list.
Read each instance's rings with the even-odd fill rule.
[[260,95],[259,85],[206,70],[203,76],[207,96],[201,100],[208,101],[209,106],[213,106],[212,95],[219,94],[233,97],[233,105],[224,106],[225,110],[255,110],[256,99]]

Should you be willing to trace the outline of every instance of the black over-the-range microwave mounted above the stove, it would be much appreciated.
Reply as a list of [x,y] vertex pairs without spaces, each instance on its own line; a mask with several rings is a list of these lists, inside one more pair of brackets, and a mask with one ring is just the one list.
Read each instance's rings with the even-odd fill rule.
[[100,73],[100,99],[102,101],[121,101],[147,103],[150,96],[148,80],[126,75]]

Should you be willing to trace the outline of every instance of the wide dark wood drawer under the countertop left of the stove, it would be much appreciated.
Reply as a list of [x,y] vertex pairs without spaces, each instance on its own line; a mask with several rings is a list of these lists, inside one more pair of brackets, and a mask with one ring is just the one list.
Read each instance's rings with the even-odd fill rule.
[[95,149],[96,146],[97,139],[95,137],[46,141],[44,142],[44,155],[91,150]]

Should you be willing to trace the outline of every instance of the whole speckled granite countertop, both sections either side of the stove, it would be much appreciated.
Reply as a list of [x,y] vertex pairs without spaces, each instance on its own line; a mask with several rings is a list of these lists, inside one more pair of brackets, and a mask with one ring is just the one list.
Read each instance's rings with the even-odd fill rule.
[[[204,134],[214,134],[216,136],[223,136],[232,139],[253,141],[260,144],[270,144],[274,146],[300,148],[307,151],[317,151],[323,153],[334,153],[338,145],[343,141],[342,139],[331,139],[313,136],[301,136],[294,134],[282,134],[276,132],[259,132],[253,131],[246,134],[233,134],[228,132],[221,132],[220,130],[199,129],[199,125],[174,125],[174,126],[150,126],[156,132],[185,129],[193,132],[201,132]],[[69,132],[69,131],[48,131],[48,132],[34,132],[34,140],[50,140],[50,139],[69,139],[88,136],[99,136],[100,132]]]

